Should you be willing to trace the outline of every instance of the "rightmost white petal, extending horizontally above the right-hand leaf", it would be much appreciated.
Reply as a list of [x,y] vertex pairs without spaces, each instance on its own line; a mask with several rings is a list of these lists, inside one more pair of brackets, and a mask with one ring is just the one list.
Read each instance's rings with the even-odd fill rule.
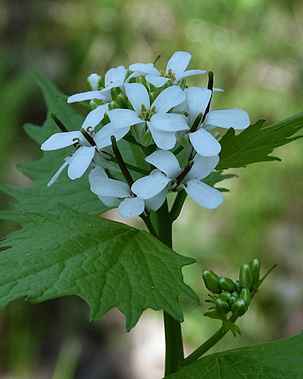
[[248,113],[238,108],[214,110],[207,113],[203,127],[211,130],[216,126],[233,127],[234,129],[245,129],[250,125]]

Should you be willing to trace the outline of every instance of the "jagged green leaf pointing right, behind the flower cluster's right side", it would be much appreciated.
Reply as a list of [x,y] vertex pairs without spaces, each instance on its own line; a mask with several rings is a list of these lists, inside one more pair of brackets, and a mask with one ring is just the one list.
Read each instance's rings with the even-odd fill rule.
[[279,161],[280,158],[268,154],[276,147],[303,137],[291,137],[303,127],[303,112],[262,128],[263,123],[264,120],[259,120],[238,135],[235,135],[233,128],[228,129],[219,141],[222,148],[216,169],[245,167],[262,161]]

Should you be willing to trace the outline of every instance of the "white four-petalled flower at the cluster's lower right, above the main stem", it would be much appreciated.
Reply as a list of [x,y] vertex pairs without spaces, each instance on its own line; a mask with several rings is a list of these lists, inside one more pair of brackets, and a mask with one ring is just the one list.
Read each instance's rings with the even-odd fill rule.
[[[142,199],[149,199],[164,190],[167,193],[182,171],[177,158],[171,151],[157,150],[145,160],[158,170],[136,180],[131,191]],[[179,185],[197,204],[207,209],[217,208],[224,199],[220,191],[200,181],[213,171],[218,162],[218,155],[202,157],[196,154],[193,167]]]

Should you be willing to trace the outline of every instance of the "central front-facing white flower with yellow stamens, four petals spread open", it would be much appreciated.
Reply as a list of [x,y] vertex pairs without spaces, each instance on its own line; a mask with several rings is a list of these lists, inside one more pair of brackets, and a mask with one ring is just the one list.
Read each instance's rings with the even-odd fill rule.
[[[181,88],[170,86],[164,89],[151,105],[148,91],[143,84],[125,84],[125,90],[134,110],[112,109],[108,116],[115,128],[113,130],[116,132],[117,129],[121,128],[126,134],[131,125],[139,124],[142,126],[147,123],[152,138],[159,148],[165,150],[173,148],[176,142],[174,132],[189,129],[184,115],[167,113],[186,99]],[[107,130],[102,132],[103,129],[104,127],[99,133],[108,133]],[[98,142],[100,142],[101,134],[99,134]],[[108,138],[108,134],[106,134],[106,138]],[[98,148],[100,148],[99,145]]]

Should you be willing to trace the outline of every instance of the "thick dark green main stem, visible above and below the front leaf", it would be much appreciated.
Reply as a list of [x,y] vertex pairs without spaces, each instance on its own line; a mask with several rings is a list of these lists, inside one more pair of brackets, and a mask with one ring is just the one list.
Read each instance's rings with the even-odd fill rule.
[[[172,219],[169,214],[167,200],[157,211],[158,238],[169,248],[173,248]],[[184,359],[181,324],[167,312],[163,312],[165,330],[165,376],[177,371]]]

